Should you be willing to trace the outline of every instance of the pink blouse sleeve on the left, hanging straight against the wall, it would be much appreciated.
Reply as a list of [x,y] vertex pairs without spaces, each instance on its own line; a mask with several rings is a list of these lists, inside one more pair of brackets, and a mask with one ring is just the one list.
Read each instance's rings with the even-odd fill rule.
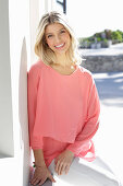
[[28,131],[29,146],[32,149],[42,149],[42,137],[36,137],[33,132],[36,118],[38,85],[40,80],[39,70],[39,68],[32,66],[27,72]]

